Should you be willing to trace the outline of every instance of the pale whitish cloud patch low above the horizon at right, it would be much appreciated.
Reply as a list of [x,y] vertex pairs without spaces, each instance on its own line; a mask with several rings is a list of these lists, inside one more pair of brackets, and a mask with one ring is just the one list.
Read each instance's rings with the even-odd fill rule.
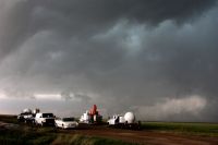
[[[165,101],[154,106],[135,107],[136,112],[145,120],[171,120],[177,116],[199,116],[207,105],[207,100],[201,96],[190,96],[185,98],[167,98]],[[184,119],[185,120],[185,119]]]

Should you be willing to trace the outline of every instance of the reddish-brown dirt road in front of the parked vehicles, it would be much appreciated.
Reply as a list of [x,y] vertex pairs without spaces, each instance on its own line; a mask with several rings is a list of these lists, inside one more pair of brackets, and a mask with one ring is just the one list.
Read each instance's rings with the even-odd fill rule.
[[107,126],[92,126],[85,130],[66,130],[63,133],[85,134],[92,136],[102,136],[122,140],[131,143],[150,145],[218,145],[218,137],[209,136],[189,136],[178,133],[157,132],[157,131],[130,131],[110,129]]

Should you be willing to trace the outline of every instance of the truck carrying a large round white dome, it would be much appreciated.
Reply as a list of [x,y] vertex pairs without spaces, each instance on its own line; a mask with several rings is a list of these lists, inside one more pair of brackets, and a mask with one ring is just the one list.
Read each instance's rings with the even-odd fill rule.
[[124,116],[114,114],[108,121],[109,126],[125,128],[125,129],[140,129],[141,122],[135,120],[133,112],[126,112]]

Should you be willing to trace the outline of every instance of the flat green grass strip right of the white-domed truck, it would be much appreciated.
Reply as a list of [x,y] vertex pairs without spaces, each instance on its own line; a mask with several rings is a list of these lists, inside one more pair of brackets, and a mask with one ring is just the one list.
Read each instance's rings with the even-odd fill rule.
[[144,130],[169,131],[192,135],[218,136],[217,123],[143,122]]

